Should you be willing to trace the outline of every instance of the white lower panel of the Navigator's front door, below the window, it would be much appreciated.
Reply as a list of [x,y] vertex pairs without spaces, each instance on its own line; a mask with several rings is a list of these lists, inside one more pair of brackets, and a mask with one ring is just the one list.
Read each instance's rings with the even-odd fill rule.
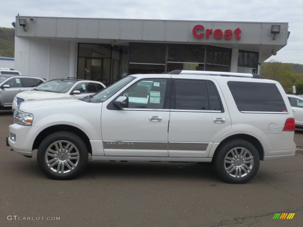
[[[160,116],[161,121],[149,117]],[[102,107],[105,156],[167,157],[169,111],[108,110]]]

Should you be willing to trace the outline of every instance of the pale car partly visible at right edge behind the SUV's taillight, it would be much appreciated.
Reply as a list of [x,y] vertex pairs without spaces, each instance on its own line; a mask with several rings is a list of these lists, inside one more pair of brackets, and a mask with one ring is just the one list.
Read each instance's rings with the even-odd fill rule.
[[295,127],[303,128],[303,97],[299,95],[287,95],[295,117]]

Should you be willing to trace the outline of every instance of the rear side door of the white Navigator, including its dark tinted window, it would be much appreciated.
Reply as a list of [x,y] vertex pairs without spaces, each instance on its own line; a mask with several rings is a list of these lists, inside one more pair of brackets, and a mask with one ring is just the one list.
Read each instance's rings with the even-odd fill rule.
[[[173,76],[169,157],[208,157],[214,141],[231,128],[231,119],[216,81]],[[188,78],[188,77],[187,77]]]

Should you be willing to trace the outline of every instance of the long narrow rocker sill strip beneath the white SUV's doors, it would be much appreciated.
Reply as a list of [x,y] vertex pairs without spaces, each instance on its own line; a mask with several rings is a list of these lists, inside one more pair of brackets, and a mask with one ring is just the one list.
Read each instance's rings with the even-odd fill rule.
[[93,160],[105,161],[156,161],[156,162],[211,162],[211,158],[92,156]]

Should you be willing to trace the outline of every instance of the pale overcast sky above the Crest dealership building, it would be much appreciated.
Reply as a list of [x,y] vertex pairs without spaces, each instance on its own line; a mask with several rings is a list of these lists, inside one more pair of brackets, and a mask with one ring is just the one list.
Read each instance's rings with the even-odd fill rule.
[[267,61],[303,64],[302,0],[2,1],[0,27],[15,16],[288,22],[288,44]]

